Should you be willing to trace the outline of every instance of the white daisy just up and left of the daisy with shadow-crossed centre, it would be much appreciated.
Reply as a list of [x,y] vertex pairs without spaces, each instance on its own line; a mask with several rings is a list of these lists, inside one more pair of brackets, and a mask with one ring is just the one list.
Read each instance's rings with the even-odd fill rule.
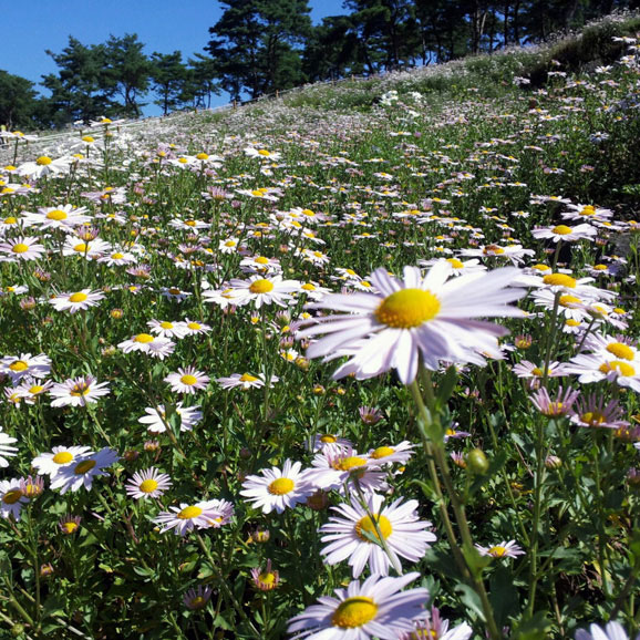
[[281,514],[287,507],[293,508],[306,502],[316,491],[300,471],[301,466],[300,462],[291,463],[287,460],[282,469],[271,467],[262,469],[261,476],[250,475],[242,483],[244,491],[240,495],[246,496],[247,502],[252,503],[256,508],[262,509],[264,514],[272,510]]

